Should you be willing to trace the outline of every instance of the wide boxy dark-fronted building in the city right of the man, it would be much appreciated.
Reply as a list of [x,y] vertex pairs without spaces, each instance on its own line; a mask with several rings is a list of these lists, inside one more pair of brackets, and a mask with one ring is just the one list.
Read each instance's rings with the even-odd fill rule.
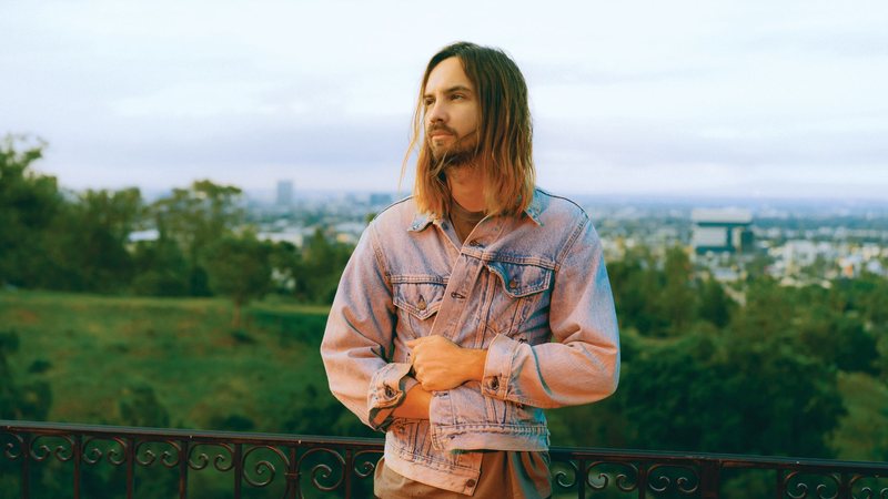
[[697,254],[748,253],[753,249],[753,213],[740,208],[695,208],[690,244]]

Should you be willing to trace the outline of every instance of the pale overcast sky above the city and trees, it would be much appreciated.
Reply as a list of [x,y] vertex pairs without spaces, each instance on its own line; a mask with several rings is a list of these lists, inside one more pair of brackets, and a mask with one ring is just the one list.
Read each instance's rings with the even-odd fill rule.
[[888,2],[0,3],[0,134],[72,189],[394,191],[422,71],[501,47],[564,193],[888,198]]

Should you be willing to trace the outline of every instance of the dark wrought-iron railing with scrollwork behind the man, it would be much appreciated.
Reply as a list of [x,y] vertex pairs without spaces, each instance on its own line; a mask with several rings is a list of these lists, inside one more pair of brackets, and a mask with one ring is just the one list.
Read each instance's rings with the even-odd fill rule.
[[[0,499],[372,497],[382,440],[0,420]],[[553,448],[554,498],[888,499],[888,464]]]

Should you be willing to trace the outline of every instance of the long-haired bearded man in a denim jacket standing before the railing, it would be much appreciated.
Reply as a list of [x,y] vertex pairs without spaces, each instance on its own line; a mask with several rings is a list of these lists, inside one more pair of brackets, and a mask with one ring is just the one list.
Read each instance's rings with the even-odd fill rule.
[[548,497],[543,408],[610,395],[619,344],[586,213],[535,189],[527,88],[473,43],[428,62],[414,195],[364,232],[321,354],[385,431],[377,497]]

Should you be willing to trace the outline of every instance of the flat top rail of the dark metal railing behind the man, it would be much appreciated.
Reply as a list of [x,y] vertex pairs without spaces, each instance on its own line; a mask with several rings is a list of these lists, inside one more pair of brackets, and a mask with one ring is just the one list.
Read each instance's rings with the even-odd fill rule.
[[[303,447],[350,447],[356,449],[382,450],[383,440],[377,438],[327,437],[316,435],[287,435],[263,432],[238,432],[215,430],[192,430],[173,428],[141,428],[127,426],[82,425],[70,422],[16,421],[0,419],[0,432],[32,432],[44,436],[81,434],[93,437],[143,437],[147,439],[188,440],[194,442],[224,441],[252,445],[297,445]],[[556,456],[586,461],[652,461],[658,464],[717,462],[726,468],[777,468],[833,471],[856,471],[888,477],[888,462],[842,461],[834,459],[813,459],[793,457],[768,457],[737,454],[655,451],[635,449],[608,449],[594,447],[553,447]]]

